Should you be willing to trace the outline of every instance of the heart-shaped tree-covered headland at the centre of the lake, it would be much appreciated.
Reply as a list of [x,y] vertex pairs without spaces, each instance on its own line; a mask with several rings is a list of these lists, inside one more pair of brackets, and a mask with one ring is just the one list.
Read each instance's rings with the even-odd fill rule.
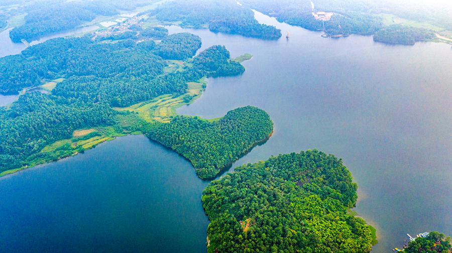
[[247,106],[214,122],[177,116],[151,129],[147,136],[190,160],[200,178],[212,178],[272,131],[268,114]]

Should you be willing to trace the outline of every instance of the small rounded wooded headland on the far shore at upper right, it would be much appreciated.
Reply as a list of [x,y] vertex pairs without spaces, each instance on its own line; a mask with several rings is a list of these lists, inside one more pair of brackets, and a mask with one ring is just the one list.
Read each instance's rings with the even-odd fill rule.
[[374,41],[414,45],[418,41],[426,41],[434,37],[433,32],[425,29],[393,25],[378,31],[374,35]]

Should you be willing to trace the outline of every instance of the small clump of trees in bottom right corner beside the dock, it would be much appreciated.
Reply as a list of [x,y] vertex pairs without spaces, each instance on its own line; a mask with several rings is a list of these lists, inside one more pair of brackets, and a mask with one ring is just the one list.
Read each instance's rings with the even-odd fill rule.
[[408,253],[450,253],[450,242],[444,240],[444,234],[432,231],[427,237],[417,237],[408,243],[404,251]]

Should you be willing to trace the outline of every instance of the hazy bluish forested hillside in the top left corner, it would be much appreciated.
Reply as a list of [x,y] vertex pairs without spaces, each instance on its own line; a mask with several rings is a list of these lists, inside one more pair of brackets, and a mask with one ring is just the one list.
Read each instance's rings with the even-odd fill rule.
[[21,39],[33,41],[42,36],[67,31],[82,25],[83,22],[92,21],[96,16],[112,16],[119,14],[120,10],[132,11],[137,7],[157,2],[156,0],[141,1],[68,1],[57,0],[39,1],[27,5],[22,10],[27,13],[25,25],[10,31],[13,42],[19,43]]

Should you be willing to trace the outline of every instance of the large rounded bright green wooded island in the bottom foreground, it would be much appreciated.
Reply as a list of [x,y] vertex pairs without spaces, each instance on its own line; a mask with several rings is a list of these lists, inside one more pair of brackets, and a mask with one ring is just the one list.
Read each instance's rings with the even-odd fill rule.
[[239,166],[202,193],[207,252],[369,252],[369,226],[347,214],[357,187],[316,149]]

